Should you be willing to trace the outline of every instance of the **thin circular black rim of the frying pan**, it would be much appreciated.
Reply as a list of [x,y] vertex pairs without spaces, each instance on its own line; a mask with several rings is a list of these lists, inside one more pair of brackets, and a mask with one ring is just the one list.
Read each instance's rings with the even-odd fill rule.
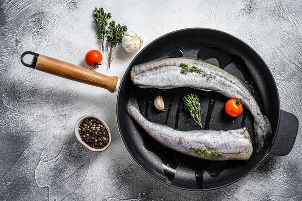
[[[189,30],[212,31],[212,32],[224,34],[224,35],[229,36],[229,37],[233,37],[234,39],[236,39],[236,40],[238,40],[239,42],[243,43],[243,44],[244,44],[246,47],[248,47],[253,53],[255,53],[256,56],[257,56],[257,57],[265,64],[265,67],[266,67],[266,69],[268,70],[269,75],[273,78],[272,81],[273,81],[274,87],[275,87],[276,89],[278,89],[278,88],[277,88],[277,85],[276,85],[276,82],[275,82],[275,79],[274,79],[274,77],[273,77],[273,75],[272,75],[272,73],[271,73],[271,71],[270,71],[268,65],[267,65],[266,62],[263,60],[263,58],[262,58],[262,57],[261,57],[261,56],[260,56],[260,55],[259,55],[259,54],[258,54],[258,53],[250,46],[250,45],[248,45],[246,42],[244,42],[243,40],[239,39],[238,37],[236,37],[236,36],[234,36],[234,35],[232,35],[232,34],[226,33],[226,32],[224,32],[224,31],[220,31],[220,30],[217,30],[217,29],[211,29],[211,28],[200,28],[200,27],[185,28],[185,29],[179,29],[179,30],[176,30],[176,31],[172,31],[172,32],[166,33],[166,34],[164,34],[164,35],[162,35],[162,36],[156,38],[155,40],[153,40],[152,42],[150,42],[149,44],[147,44],[147,45],[146,45],[142,50],[140,50],[139,53],[132,59],[132,61],[130,62],[129,66],[128,66],[128,68],[127,68],[127,70],[125,71],[125,74],[123,75],[123,78],[122,78],[122,80],[121,80],[121,83],[122,83],[125,79],[127,79],[127,78],[126,78],[126,75],[127,75],[127,72],[129,71],[129,69],[131,68],[133,61],[136,60],[136,58],[140,56],[141,52],[143,52],[144,49],[146,49],[147,47],[149,47],[149,46],[152,45],[153,43],[157,42],[158,40],[161,40],[162,38],[165,38],[165,37],[167,37],[167,36],[169,36],[169,35],[175,34],[175,33],[177,33],[177,32],[189,31]],[[217,186],[217,187],[213,187],[213,188],[206,188],[206,189],[190,189],[190,188],[184,188],[184,187],[179,187],[179,186],[175,186],[175,185],[173,185],[173,184],[169,184],[169,183],[167,183],[167,182],[164,182],[164,181],[158,179],[157,177],[155,177],[153,174],[150,174],[144,167],[142,167],[142,165],[139,164],[139,162],[138,162],[138,161],[136,160],[136,158],[132,155],[132,153],[130,152],[128,146],[127,146],[126,143],[125,143],[124,137],[123,137],[122,134],[121,134],[121,133],[122,133],[122,130],[121,130],[120,121],[119,121],[119,118],[118,118],[118,106],[119,106],[120,103],[119,103],[119,101],[117,101],[117,104],[116,104],[116,119],[117,119],[117,125],[118,125],[119,135],[121,136],[121,139],[122,139],[122,141],[123,141],[123,143],[124,143],[124,145],[125,145],[125,147],[126,147],[128,153],[130,154],[130,156],[132,157],[132,159],[135,161],[135,163],[136,163],[136,164],[137,164],[144,172],[146,172],[149,176],[153,177],[156,181],[159,181],[159,182],[161,182],[161,183],[163,183],[163,184],[165,184],[165,185],[168,185],[168,186],[171,186],[171,187],[174,187],[174,188],[178,188],[178,189],[182,189],[182,190],[187,190],[187,191],[208,191],[208,190],[215,190],[215,189],[223,188],[223,187],[225,187],[225,186],[229,186],[229,185],[231,185],[231,184],[234,184],[235,182],[237,182],[237,181],[243,179],[244,177],[246,177],[247,175],[249,175],[252,171],[254,171],[254,170],[262,163],[262,161],[263,161],[263,160],[267,157],[267,155],[269,154],[269,151],[270,151],[270,149],[271,149],[271,147],[272,147],[272,144],[273,144],[274,141],[275,141],[276,133],[277,133],[277,131],[278,131],[279,122],[280,122],[280,97],[279,97],[279,92],[278,92],[278,90],[276,90],[276,95],[277,95],[277,98],[278,98],[278,99],[277,99],[277,102],[278,102],[278,103],[277,103],[277,105],[278,105],[278,120],[277,120],[277,125],[276,125],[276,131],[275,131],[275,133],[274,133],[274,137],[273,137],[273,140],[272,140],[272,143],[271,143],[269,149],[267,149],[266,153],[265,153],[265,154],[263,155],[263,157],[258,161],[258,163],[257,163],[256,165],[254,165],[254,167],[251,168],[251,170],[249,170],[246,174],[244,174],[243,176],[239,177],[238,179],[235,179],[234,181],[232,181],[232,182],[230,182],[230,183],[228,183],[228,184],[224,184],[224,185],[221,185],[221,186]],[[120,96],[121,96],[121,87],[120,87],[119,90],[118,90],[117,100],[119,100]]]

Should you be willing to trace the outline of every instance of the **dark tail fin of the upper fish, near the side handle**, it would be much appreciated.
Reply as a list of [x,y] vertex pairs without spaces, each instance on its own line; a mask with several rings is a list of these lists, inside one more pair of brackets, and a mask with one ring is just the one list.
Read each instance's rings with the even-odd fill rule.
[[254,121],[254,130],[257,145],[256,150],[257,153],[259,153],[265,145],[270,145],[272,142],[272,127],[266,116],[264,116],[264,119],[261,121],[261,123]]

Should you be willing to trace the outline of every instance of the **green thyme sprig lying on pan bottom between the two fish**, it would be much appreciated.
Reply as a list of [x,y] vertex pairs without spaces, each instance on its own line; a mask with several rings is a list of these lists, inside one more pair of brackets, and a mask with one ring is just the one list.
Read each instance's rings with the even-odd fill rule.
[[200,102],[197,95],[189,94],[183,98],[183,101],[184,101],[184,108],[189,110],[194,121],[202,128],[202,124],[201,124],[202,109],[200,107]]

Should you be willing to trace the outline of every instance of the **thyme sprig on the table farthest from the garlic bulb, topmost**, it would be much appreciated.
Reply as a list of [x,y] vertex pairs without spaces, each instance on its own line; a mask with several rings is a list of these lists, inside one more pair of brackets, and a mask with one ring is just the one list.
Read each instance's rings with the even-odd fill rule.
[[105,13],[103,8],[100,8],[99,10],[95,8],[93,18],[95,19],[95,22],[97,24],[99,39],[101,40],[102,51],[104,53],[104,38],[108,33],[106,26],[108,25],[108,20],[111,18],[111,14]]

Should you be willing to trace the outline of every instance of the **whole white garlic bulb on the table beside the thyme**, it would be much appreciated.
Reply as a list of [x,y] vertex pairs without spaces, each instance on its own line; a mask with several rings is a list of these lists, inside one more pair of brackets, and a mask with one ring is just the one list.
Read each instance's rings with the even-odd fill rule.
[[133,31],[128,31],[124,33],[122,38],[122,46],[127,52],[136,52],[142,46],[143,39],[138,36],[137,33]]

